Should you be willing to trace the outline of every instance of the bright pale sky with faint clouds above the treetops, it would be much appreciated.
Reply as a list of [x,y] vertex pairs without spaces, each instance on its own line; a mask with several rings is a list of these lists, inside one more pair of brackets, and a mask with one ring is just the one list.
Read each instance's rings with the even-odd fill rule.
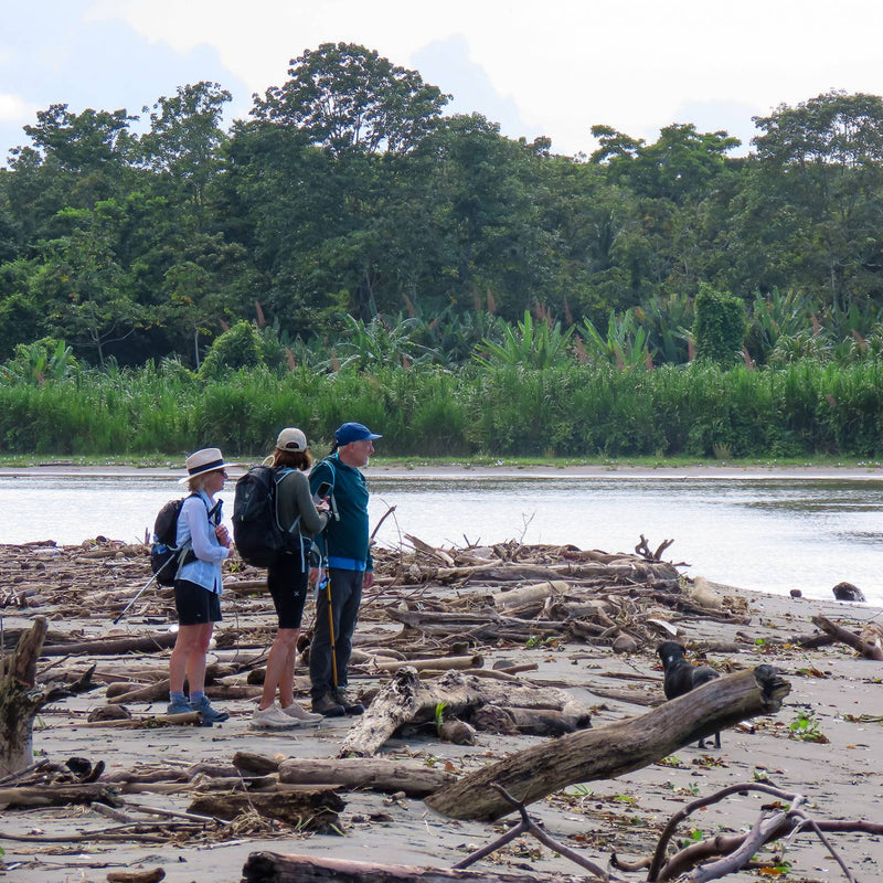
[[753,116],[830,89],[883,95],[879,0],[0,0],[0,162],[51,104],[147,118],[200,81],[225,123],[326,42],[358,43],[510,138],[589,155],[592,126],[656,141],[692,123],[751,149]]

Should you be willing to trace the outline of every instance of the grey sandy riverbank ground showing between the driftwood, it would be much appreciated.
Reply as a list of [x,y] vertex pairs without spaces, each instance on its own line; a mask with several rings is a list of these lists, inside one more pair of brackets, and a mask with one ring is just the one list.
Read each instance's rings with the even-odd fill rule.
[[[43,553],[52,571],[53,557]],[[63,564],[58,566],[63,574]],[[4,584],[10,573],[0,575]],[[52,577],[46,577],[47,579]],[[678,628],[679,639],[693,647],[714,641],[732,646],[727,652],[709,653],[709,661],[721,669],[756,664],[778,667],[791,685],[781,711],[756,719],[749,726],[726,731],[721,751],[700,751],[684,746],[664,764],[655,764],[613,780],[574,785],[546,800],[531,806],[531,815],[544,830],[572,849],[606,864],[609,855],[634,859],[648,854],[661,826],[680,808],[698,797],[738,783],[768,779],[780,788],[806,795],[809,812],[820,819],[864,819],[879,821],[883,816],[883,774],[879,758],[883,753],[883,668],[881,663],[855,659],[852,651],[831,646],[819,650],[797,648],[790,638],[813,630],[810,618],[823,613],[847,627],[874,613],[863,605],[810,602],[757,595],[731,587],[716,587],[722,595],[742,597],[751,615],[748,624],[723,624],[703,618],[668,615]],[[88,587],[77,588],[88,606]],[[266,605],[244,604],[231,597],[225,602],[223,630],[244,631],[263,628],[269,637],[272,619]],[[24,625],[34,614],[53,616],[52,610],[7,608],[7,629]],[[149,609],[114,629],[95,615],[70,621],[53,620],[52,627],[81,629],[85,636],[109,637],[115,634],[150,634],[168,627],[157,621]],[[357,632],[357,643],[376,634],[383,626],[366,617]],[[228,652],[226,655],[228,656]],[[249,651],[251,652],[251,651]],[[648,703],[662,699],[661,671],[652,647],[620,656],[606,647],[564,641],[556,645],[499,646],[483,648],[485,666],[506,657],[517,663],[535,663],[536,671],[523,675],[530,682],[564,687],[593,706],[593,726],[645,713]],[[217,658],[222,658],[216,651]],[[163,664],[168,652],[156,655]],[[96,661],[100,667],[125,664],[125,660],[87,657],[68,659],[66,666],[85,669]],[[49,671],[57,660],[43,666]],[[360,672],[353,678],[357,689],[379,682],[376,675]],[[302,682],[300,682],[302,683]],[[619,688],[620,698],[609,696]],[[593,693],[593,688],[598,692]],[[629,701],[628,692],[634,693]],[[71,756],[103,760],[108,770],[132,768],[139,764],[167,764],[185,767],[196,763],[228,764],[237,751],[268,756],[306,758],[334,757],[349,730],[347,719],[326,721],[310,731],[289,734],[255,733],[248,728],[254,708],[249,700],[228,701],[228,722],[209,730],[150,728],[103,730],[82,726],[89,711],[107,700],[100,691],[53,704],[39,719],[34,734],[38,757],[63,762]],[[136,714],[161,713],[163,703],[131,708]],[[799,736],[795,730],[800,716],[809,720],[812,732],[825,742]],[[538,737],[496,736],[479,733],[475,745],[456,746],[435,737],[414,736],[395,740],[385,746],[386,757],[411,758],[426,764],[450,764],[457,773],[468,773],[512,752],[535,745]],[[6,865],[0,877],[15,883],[72,883],[103,881],[110,870],[162,868],[171,883],[212,880],[213,883],[238,883],[248,854],[259,850],[306,853],[386,863],[406,863],[449,868],[474,849],[493,840],[504,830],[503,823],[485,825],[444,819],[421,800],[370,791],[343,795],[347,808],[341,816],[342,836],[305,836],[289,831],[285,836],[262,839],[233,837],[217,842],[191,841],[167,844],[89,841],[74,843],[20,842],[4,839],[4,833],[76,834],[83,830],[107,828],[110,822],[87,808],[7,811],[0,822],[0,844]],[[187,794],[134,794],[126,800],[142,805],[184,810]],[[703,836],[715,831],[743,831],[751,827],[769,802],[763,795],[736,796],[704,809],[689,830]],[[683,832],[684,837],[688,831]],[[868,834],[832,837],[838,853],[858,880],[872,881],[883,866],[883,842]],[[842,874],[827,850],[809,834],[797,838],[785,860],[791,863],[786,877],[802,883],[836,881]],[[578,869],[530,837],[523,837],[496,854],[501,868],[576,874]],[[492,866],[490,860],[482,863]],[[6,870],[2,870],[2,869]],[[626,874],[639,881],[640,874]],[[757,877],[742,872],[727,877],[747,883]]]

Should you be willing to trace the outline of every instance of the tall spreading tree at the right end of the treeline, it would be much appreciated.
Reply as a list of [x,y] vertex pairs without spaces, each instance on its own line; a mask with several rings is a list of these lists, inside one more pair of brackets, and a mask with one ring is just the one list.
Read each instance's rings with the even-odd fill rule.
[[766,233],[773,287],[806,285],[834,311],[883,302],[883,98],[828,92],[755,117],[746,235]]

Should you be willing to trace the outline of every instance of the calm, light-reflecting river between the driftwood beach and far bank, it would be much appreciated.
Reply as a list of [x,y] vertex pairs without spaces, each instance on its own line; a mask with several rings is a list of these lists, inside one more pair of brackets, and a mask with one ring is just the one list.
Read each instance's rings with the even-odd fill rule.
[[[235,474],[234,474],[235,475]],[[368,470],[376,540],[434,545],[518,540],[631,552],[674,540],[663,558],[690,576],[762,592],[831,598],[845,581],[883,604],[883,478],[877,476],[498,476]],[[163,502],[183,493],[169,475],[0,470],[0,542],[97,535],[142,541]],[[221,494],[227,517],[233,481]]]

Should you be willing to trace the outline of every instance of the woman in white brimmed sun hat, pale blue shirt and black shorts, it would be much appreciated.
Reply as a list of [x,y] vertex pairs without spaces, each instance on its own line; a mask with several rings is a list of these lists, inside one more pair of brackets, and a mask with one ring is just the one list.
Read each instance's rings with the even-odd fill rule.
[[[175,546],[188,546],[174,579],[178,638],[169,661],[169,714],[199,712],[204,724],[230,717],[205,696],[205,660],[214,624],[221,621],[223,592],[221,563],[230,555],[232,541],[221,522],[221,500],[226,464],[217,448],[202,448],[187,458],[187,482],[191,496],[178,517]],[[184,678],[190,688],[184,696]]]

